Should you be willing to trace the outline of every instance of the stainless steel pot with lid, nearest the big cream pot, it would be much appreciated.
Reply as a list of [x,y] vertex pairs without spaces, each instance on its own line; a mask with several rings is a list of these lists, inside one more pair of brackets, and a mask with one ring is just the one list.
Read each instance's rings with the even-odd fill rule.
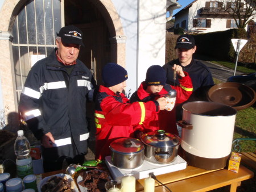
[[141,136],[146,148],[145,159],[155,164],[169,164],[177,157],[180,137],[164,130],[152,131]]

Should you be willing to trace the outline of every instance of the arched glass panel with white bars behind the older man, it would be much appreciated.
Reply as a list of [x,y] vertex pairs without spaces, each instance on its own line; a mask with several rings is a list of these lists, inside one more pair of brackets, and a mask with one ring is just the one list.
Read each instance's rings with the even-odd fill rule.
[[31,0],[16,16],[12,51],[18,100],[32,65],[55,48],[56,31],[61,28],[60,7],[57,0]]

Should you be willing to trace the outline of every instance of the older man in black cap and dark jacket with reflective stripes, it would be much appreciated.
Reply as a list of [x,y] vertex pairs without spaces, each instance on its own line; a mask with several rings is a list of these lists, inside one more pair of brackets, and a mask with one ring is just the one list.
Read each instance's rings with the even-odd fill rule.
[[92,73],[77,59],[82,32],[65,26],[57,34],[51,55],[31,68],[20,95],[19,111],[41,140],[44,172],[82,163],[89,137],[86,98],[96,86]]

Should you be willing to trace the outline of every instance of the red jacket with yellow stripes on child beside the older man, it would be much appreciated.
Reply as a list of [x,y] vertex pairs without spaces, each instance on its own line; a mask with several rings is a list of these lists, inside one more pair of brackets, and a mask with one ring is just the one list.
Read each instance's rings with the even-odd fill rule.
[[110,155],[109,144],[120,137],[133,137],[133,126],[155,116],[158,102],[134,102],[123,93],[116,94],[108,87],[100,86],[96,97],[96,159]]

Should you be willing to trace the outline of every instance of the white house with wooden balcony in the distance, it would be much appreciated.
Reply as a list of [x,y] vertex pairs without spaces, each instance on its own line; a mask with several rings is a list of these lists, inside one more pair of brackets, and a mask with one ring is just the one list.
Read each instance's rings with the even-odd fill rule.
[[[233,6],[227,1],[228,6]],[[222,2],[210,0],[195,0],[184,9],[177,12],[175,17],[175,28],[184,28],[191,33],[206,33],[214,31],[225,31],[230,28],[237,28],[235,20],[221,10]],[[241,14],[245,9],[241,9]],[[245,28],[247,30],[247,26]]]

